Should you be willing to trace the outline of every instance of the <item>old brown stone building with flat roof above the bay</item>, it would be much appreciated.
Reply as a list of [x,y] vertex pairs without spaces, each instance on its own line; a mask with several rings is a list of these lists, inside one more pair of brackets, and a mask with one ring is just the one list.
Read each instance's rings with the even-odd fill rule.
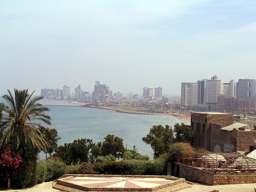
[[246,151],[256,139],[254,126],[233,124],[232,114],[195,112],[191,114],[191,128],[194,146],[214,152]]

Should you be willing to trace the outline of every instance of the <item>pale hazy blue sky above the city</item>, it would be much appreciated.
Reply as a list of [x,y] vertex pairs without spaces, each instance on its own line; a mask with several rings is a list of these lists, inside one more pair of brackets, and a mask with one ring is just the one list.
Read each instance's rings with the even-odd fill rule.
[[1,0],[0,94],[256,78],[255,0]]

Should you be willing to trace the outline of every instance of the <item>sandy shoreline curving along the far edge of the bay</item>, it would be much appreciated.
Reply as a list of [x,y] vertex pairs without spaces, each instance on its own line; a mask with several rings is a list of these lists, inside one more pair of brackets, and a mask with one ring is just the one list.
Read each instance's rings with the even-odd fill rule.
[[[60,101],[55,101],[55,100],[47,100],[48,102],[60,102]],[[61,102],[61,103],[66,103],[70,104],[70,102]],[[85,108],[98,108],[98,109],[104,109],[104,110],[114,110],[116,112],[120,113],[128,113],[128,114],[144,114],[144,115],[166,115],[166,116],[174,116],[177,119],[185,122],[185,123],[190,123],[190,115],[183,115],[183,114],[178,114],[178,113],[172,113],[172,112],[163,112],[163,113],[156,113],[156,112],[146,112],[145,110],[126,110],[118,107],[113,107],[113,106],[92,106],[92,105],[85,105],[84,103],[76,103],[72,102],[72,104],[76,105],[45,105],[45,106],[77,106],[77,107],[85,107]]]

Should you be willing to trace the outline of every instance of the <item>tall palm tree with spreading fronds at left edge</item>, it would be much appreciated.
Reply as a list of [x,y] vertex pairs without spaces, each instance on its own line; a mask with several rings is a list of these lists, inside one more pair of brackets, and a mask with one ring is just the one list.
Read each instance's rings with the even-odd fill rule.
[[14,97],[10,90],[8,93],[2,96],[7,105],[0,103],[2,108],[0,148],[8,145],[14,151],[22,150],[23,158],[26,156],[27,147],[46,152],[49,144],[38,128],[44,127],[41,122],[50,125],[51,118],[45,114],[50,109],[38,103],[43,97],[32,98],[34,91],[30,95],[28,89],[14,88]]

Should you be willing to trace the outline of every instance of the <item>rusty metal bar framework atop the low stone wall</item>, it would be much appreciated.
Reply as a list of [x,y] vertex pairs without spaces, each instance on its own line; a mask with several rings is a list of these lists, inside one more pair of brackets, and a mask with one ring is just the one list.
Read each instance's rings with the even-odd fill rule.
[[176,162],[208,172],[256,172],[256,159],[239,153],[196,153],[187,154]]

